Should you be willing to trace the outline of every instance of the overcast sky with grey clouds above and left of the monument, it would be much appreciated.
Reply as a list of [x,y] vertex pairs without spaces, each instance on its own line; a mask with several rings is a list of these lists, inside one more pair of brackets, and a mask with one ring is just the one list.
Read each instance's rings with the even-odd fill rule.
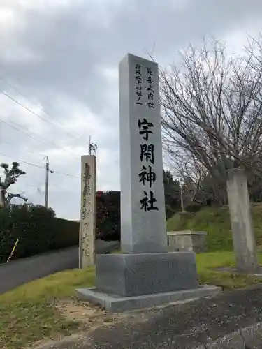
[[50,207],[78,219],[89,135],[97,188],[119,190],[118,64],[126,53],[148,58],[146,49],[166,66],[210,34],[238,51],[247,34],[259,35],[261,17],[261,0],[0,0],[0,161],[27,172],[11,191],[43,204],[49,156],[59,172],[50,174]]

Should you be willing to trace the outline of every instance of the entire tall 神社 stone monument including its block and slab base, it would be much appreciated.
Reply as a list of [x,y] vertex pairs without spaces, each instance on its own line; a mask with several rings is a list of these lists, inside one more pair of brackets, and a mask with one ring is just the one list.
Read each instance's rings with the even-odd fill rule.
[[122,254],[97,255],[96,288],[78,295],[117,312],[217,292],[194,252],[167,252],[158,65],[127,54],[119,80]]

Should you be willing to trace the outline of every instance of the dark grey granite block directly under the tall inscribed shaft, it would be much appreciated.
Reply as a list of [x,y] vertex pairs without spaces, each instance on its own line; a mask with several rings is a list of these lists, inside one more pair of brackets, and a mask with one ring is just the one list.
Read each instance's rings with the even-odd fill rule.
[[96,288],[121,296],[198,287],[194,252],[97,255]]

